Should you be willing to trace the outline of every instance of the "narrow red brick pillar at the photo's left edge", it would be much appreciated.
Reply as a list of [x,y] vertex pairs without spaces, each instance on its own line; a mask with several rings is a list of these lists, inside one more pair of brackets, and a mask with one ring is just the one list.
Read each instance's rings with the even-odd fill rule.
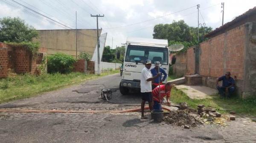
[[8,51],[7,48],[3,47],[4,45],[0,43],[0,78],[7,77]]

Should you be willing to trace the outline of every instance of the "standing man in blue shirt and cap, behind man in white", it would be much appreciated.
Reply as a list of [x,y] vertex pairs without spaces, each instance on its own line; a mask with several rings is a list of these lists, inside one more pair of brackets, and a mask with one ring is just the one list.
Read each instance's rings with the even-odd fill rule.
[[[152,81],[152,90],[159,85],[159,81],[160,81],[160,85],[161,85],[162,82],[165,81],[166,77],[167,77],[165,70],[159,66],[160,66],[160,62],[155,62],[155,67],[151,69],[152,76],[156,76],[157,73],[161,73],[161,75],[158,78],[156,78]],[[158,71],[158,67],[159,67],[160,72]],[[162,79],[162,74],[164,74],[163,79]]]

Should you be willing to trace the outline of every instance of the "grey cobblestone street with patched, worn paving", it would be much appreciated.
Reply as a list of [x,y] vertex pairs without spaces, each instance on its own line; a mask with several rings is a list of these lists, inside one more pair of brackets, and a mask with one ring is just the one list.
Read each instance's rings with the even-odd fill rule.
[[[0,109],[116,111],[140,107],[138,93],[121,95],[119,74],[0,104]],[[112,103],[101,89],[112,89]],[[124,103],[122,103],[124,102]],[[129,103],[134,102],[134,103]],[[201,125],[191,129],[141,120],[131,113],[0,112],[0,143],[255,143],[256,123],[237,116],[229,126]]]

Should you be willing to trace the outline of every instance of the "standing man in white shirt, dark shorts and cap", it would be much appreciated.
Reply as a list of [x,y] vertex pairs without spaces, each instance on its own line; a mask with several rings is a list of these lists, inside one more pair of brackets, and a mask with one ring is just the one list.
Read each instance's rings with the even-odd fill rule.
[[150,71],[151,68],[151,61],[146,60],[145,61],[145,67],[141,71],[141,78],[140,78],[140,92],[142,95],[142,102],[141,102],[141,119],[145,119],[144,116],[144,107],[145,102],[148,101],[148,105],[150,110],[153,109],[154,101],[152,100],[152,84],[151,81],[156,79],[161,75],[161,73],[157,73],[156,76],[152,77],[152,73]]

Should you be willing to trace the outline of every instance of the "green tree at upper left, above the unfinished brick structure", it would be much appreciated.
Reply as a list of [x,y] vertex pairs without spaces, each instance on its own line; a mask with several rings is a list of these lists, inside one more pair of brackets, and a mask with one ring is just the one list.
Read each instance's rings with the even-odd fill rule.
[[38,32],[19,17],[0,18],[0,41],[29,42],[38,37]]

